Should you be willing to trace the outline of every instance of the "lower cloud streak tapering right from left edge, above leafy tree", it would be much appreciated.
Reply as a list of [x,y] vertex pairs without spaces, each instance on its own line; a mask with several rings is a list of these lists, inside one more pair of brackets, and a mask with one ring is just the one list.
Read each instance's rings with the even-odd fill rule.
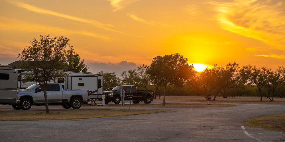
[[17,31],[27,33],[56,33],[56,34],[80,34],[84,36],[97,37],[109,40],[109,37],[95,34],[87,31],[66,30],[51,26],[44,26],[40,24],[33,24],[29,22],[18,21],[15,19],[0,17],[0,30],[1,31]]

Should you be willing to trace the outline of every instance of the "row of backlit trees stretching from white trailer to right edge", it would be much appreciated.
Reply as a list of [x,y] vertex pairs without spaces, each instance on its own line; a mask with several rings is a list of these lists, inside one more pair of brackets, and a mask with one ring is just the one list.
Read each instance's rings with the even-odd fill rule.
[[154,90],[156,95],[199,95],[207,99],[212,95],[259,96],[274,101],[274,97],[285,96],[285,68],[272,70],[265,66],[246,65],[236,62],[226,66],[214,64],[197,72],[187,58],[179,53],[154,57],[150,65],[142,64],[137,69],[121,73],[122,80],[115,72],[103,74],[103,89],[117,85],[136,85],[141,90]]

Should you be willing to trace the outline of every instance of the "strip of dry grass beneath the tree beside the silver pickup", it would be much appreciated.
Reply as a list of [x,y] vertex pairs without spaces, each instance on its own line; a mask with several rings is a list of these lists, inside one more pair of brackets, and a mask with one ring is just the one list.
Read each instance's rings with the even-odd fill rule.
[[60,109],[50,110],[51,114],[46,114],[45,110],[15,110],[1,111],[0,121],[32,121],[32,120],[71,120],[88,119],[100,117],[131,116],[165,112],[168,110],[109,110],[109,109]]

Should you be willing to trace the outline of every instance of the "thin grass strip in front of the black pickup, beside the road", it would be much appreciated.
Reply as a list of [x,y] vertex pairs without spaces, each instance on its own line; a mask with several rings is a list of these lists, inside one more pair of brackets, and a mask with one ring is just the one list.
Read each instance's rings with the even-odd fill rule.
[[[106,106],[104,107],[129,107],[130,104],[129,103],[125,103],[125,106],[122,106],[121,104],[114,104],[114,103],[110,103],[110,104],[106,104]],[[144,103],[138,103],[138,104],[131,104],[131,107],[170,107],[170,108],[198,108],[198,107],[228,107],[228,106],[235,106],[235,105],[230,105],[230,104],[211,104],[211,105],[207,105],[207,104],[184,104],[184,103],[166,103],[165,106],[163,106],[163,104],[144,104]],[[83,106],[83,107],[102,107],[102,106],[98,106],[98,105],[93,105],[93,106]]]

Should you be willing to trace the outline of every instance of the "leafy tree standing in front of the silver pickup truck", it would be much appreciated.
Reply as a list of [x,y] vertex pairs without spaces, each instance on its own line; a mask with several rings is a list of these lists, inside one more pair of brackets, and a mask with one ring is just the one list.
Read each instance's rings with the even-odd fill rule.
[[21,61],[21,69],[31,73],[25,75],[23,78],[24,82],[25,80],[35,78],[36,82],[42,87],[46,113],[49,113],[46,85],[52,78],[67,75],[66,72],[58,70],[66,68],[69,52],[73,51],[68,44],[69,41],[70,39],[64,36],[58,38],[40,36],[39,40],[31,40],[29,42],[31,45],[27,46],[27,49],[24,48],[17,57]]

